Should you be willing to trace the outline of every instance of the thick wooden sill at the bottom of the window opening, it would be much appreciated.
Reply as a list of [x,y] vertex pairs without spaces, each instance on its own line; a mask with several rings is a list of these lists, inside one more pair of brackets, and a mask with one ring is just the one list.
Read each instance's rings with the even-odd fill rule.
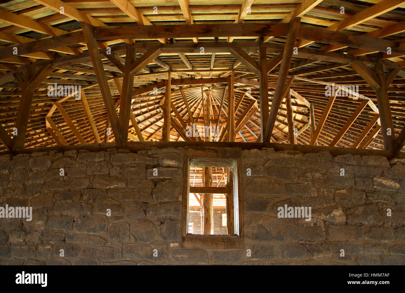
[[213,248],[213,249],[243,249],[243,238],[238,235],[194,235],[182,237],[181,247],[184,248]]

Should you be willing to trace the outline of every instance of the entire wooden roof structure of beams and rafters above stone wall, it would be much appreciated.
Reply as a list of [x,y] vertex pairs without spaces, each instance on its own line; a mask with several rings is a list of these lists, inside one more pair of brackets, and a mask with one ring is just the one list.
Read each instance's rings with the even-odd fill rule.
[[[396,153],[404,85],[403,0],[0,3],[0,151],[209,140]],[[193,123],[219,135],[190,137]]]

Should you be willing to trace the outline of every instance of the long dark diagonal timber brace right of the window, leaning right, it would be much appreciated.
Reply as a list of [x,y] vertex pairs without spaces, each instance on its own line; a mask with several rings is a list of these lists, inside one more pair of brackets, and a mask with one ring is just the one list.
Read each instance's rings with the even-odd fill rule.
[[[292,52],[294,50],[300,21],[301,19],[296,18],[289,24],[286,45],[283,51],[283,60],[281,61],[280,65],[280,67],[284,70],[280,70],[277,77],[277,85],[274,91],[273,101],[271,103],[270,114],[269,118],[267,119],[266,131],[264,132],[263,141],[270,141],[271,134],[273,133],[273,127],[277,118],[277,113],[280,108],[281,101],[283,100],[283,97],[281,97],[281,95],[283,95],[284,89],[286,88],[286,79],[288,76],[288,70],[286,70],[286,68],[290,68]],[[287,88],[289,88],[289,86],[287,86]]]

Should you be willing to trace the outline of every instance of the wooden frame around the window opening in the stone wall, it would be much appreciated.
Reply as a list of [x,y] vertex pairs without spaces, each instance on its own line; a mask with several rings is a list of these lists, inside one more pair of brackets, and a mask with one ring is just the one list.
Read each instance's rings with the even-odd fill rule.
[[[241,196],[241,149],[240,148],[207,148],[207,147],[185,147],[183,185],[183,225],[181,247],[205,248],[205,249],[243,249],[243,200]],[[196,235],[188,234],[188,198],[190,193],[190,166],[198,166],[209,162],[210,167],[228,167],[234,172],[233,194],[235,234],[237,235]],[[237,202],[237,204],[236,204]],[[228,220],[228,219],[227,219]]]

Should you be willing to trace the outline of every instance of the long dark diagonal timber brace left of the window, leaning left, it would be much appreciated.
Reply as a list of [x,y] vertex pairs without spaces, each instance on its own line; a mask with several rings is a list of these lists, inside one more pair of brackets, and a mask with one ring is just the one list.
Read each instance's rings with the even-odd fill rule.
[[96,73],[98,84],[100,86],[101,95],[106,106],[108,118],[111,123],[111,128],[114,132],[115,141],[117,141],[117,143],[121,143],[122,130],[118,121],[117,112],[115,111],[114,102],[111,97],[111,91],[108,85],[107,77],[104,74],[104,67],[101,62],[100,52],[98,51],[97,42],[94,37],[94,29],[92,26],[85,22],[81,22],[81,27],[83,29],[83,35],[87,43],[90,57],[92,59],[94,72]]

